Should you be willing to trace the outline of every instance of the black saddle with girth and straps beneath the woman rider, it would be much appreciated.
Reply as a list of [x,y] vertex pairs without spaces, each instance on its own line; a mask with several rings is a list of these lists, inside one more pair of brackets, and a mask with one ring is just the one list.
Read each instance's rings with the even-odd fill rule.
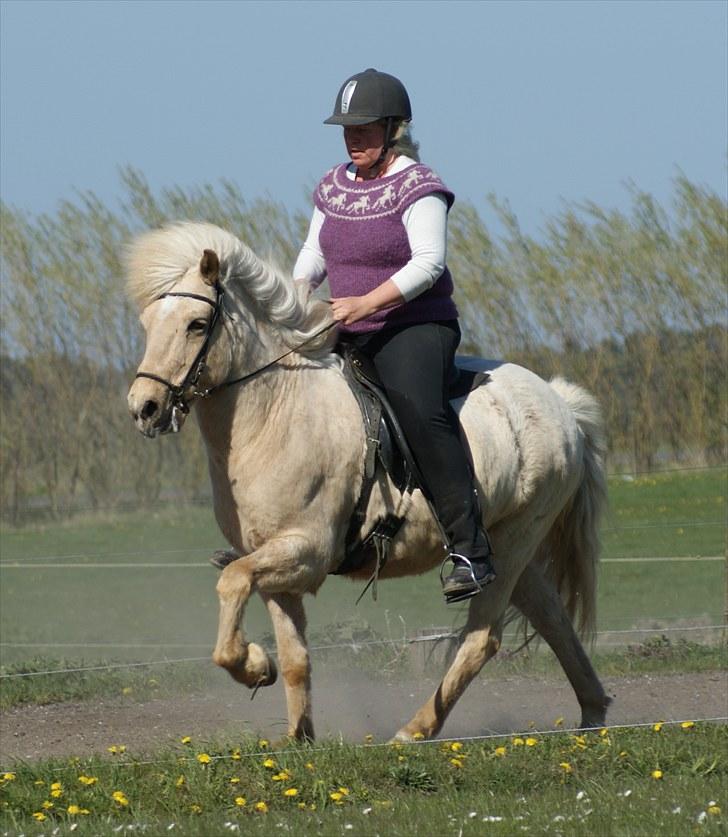
[[[344,377],[361,409],[367,449],[364,482],[346,534],[344,560],[335,570],[332,570],[331,574],[349,573],[376,561],[374,573],[361,594],[363,596],[369,585],[374,583],[373,595],[376,599],[376,580],[379,571],[387,561],[392,539],[404,523],[404,517],[390,511],[384,517],[380,517],[366,535],[362,537],[359,534],[366,519],[377,468],[383,469],[398,490],[404,494],[411,494],[419,488],[428,501],[430,501],[430,494],[394,410],[385,395],[374,364],[349,343],[339,344],[336,351],[343,358]],[[457,356],[455,358],[456,374],[450,382],[450,400],[462,398],[485,384],[490,378],[490,370],[497,365],[497,362],[484,358]],[[463,441],[465,441],[464,437]],[[467,444],[465,447],[467,451]],[[430,507],[432,508],[431,502]],[[435,519],[437,520],[436,515]],[[440,529],[444,536],[441,525]],[[446,537],[444,539],[447,541]]]

